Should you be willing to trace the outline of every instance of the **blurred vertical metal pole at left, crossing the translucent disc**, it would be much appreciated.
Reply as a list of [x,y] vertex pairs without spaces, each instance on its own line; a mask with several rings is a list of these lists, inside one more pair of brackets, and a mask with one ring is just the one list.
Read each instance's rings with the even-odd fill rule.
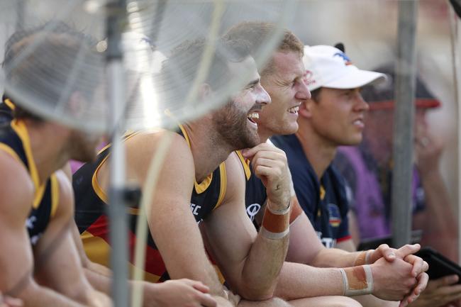
[[128,306],[128,223],[125,206],[125,149],[123,112],[126,104],[126,82],[123,74],[121,32],[126,12],[125,0],[113,0],[107,6],[107,78],[111,118],[111,170],[109,189],[109,218],[111,240],[111,267],[113,269],[112,298],[114,307]]

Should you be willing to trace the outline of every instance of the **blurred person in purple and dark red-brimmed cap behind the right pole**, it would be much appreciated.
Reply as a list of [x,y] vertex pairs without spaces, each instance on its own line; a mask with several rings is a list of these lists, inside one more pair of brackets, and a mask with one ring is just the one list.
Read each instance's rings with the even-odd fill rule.
[[[370,104],[365,118],[364,140],[357,147],[340,147],[335,165],[350,186],[352,221],[359,235],[355,238],[382,237],[390,234],[391,175],[394,123],[394,69],[391,65],[377,69],[386,73],[389,82],[380,86],[365,86],[362,96]],[[413,169],[413,229],[423,230],[421,245],[430,245],[452,260],[457,259],[455,215],[448,191],[440,174],[443,152],[440,140],[431,135],[426,112],[440,106],[416,79],[415,143],[416,165]],[[457,275],[430,280],[428,288],[411,306],[444,306],[461,298]]]

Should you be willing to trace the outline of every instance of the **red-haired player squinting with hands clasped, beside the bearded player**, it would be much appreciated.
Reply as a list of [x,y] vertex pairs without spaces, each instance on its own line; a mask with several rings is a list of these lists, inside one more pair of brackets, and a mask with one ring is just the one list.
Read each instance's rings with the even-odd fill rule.
[[[232,39],[245,39],[250,43],[252,52],[257,52],[258,44],[264,40],[267,35],[274,30],[274,26],[269,23],[241,23],[228,30],[226,34]],[[257,121],[258,134],[262,141],[267,140],[274,134],[294,133],[298,129],[296,123],[297,111],[299,106],[309,99],[310,95],[306,89],[302,78],[304,76],[304,65],[301,61],[304,46],[288,30],[284,30],[282,43],[274,52],[266,69],[262,69],[261,82],[265,89],[270,93],[272,104],[266,106],[261,112]],[[244,156],[250,155],[251,152],[243,152]],[[242,156],[243,158],[243,156]],[[255,176],[251,176],[251,165],[245,165],[245,173],[248,178],[246,189],[246,203],[248,215],[252,219],[257,219],[257,211],[266,201],[265,190],[262,189],[262,183]],[[287,260],[311,264],[319,267],[352,267],[358,264],[364,264],[365,255],[363,253],[348,253],[341,250],[327,250],[321,245],[320,240],[314,232],[311,223],[306,218],[299,205],[297,205],[296,197],[291,199],[293,212],[291,213],[290,224],[290,245]],[[297,206],[296,206],[297,205]],[[416,252],[413,247],[405,247],[408,251]],[[367,258],[368,263],[375,262],[383,255],[389,259],[389,263],[384,262],[382,267],[378,263],[372,264],[374,269],[374,291],[376,296],[388,299],[401,299],[409,291],[409,287],[402,283],[402,277],[397,277],[397,272],[403,267],[409,269],[411,266],[405,266],[404,262],[391,264],[394,258],[389,257],[389,248],[380,247],[374,252],[369,252]],[[405,257],[407,254],[403,250],[396,252],[396,255]],[[414,257],[414,256],[413,256]],[[413,258],[416,260],[416,258]],[[415,263],[421,264],[421,259]],[[392,267],[394,265],[394,267]],[[416,264],[418,266],[418,264]],[[389,276],[380,279],[378,273],[388,272]],[[416,270],[418,271],[418,270]],[[415,271],[415,272],[416,272]],[[393,272],[393,273],[391,273]],[[407,271],[406,279],[413,279],[409,271]],[[413,272],[412,272],[413,273]],[[284,278],[288,276],[287,278]],[[305,278],[310,276],[311,278]],[[296,279],[298,278],[298,279]],[[421,282],[415,288],[416,294],[424,288],[427,275],[422,274]],[[289,282],[289,279],[298,281],[296,286]],[[393,279],[393,281],[390,281]],[[378,286],[383,283],[385,286]],[[300,293],[304,296],[324,296],[312,298],[309,303],[311,306],[357,306],[357,303],[349,298],[333,297],[326,295],[357,295],[346,292],[343,289],[344,280],[341,277],[340,269],[316,269],[307,265],[299,266],[286,263],[282,269],[279,286],[277,287],[277,295],[282,297],[291,297],[290,295],[299,296]],[[378,290],[379,289],[379,290]],[[390,289],[399,289],[396,295],[389,295]],[[368,292],[370,293],[370,292]],[[409,298],[414,298],[417,295],[409,294]],[[377,299],[372,299],[371,304],[377,306]],[[390,303],[390,302],[389,302]]]

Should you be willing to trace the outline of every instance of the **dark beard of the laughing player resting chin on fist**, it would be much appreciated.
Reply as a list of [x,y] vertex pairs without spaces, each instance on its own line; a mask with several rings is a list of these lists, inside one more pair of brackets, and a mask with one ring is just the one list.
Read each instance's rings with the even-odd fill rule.
[[255,147],[260,143],[259,135],[247,128],[247,113],[238,110],[233,101],[228,101],[214,114],[213,123],[221,140],[234,150]]

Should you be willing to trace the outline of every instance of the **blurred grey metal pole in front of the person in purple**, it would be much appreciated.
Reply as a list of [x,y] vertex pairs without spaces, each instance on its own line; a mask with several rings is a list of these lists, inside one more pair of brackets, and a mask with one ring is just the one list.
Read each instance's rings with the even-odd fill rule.
[[417,11],[418,1],[399,1],[392,177],[392,245],[396,248],[411,239]]

